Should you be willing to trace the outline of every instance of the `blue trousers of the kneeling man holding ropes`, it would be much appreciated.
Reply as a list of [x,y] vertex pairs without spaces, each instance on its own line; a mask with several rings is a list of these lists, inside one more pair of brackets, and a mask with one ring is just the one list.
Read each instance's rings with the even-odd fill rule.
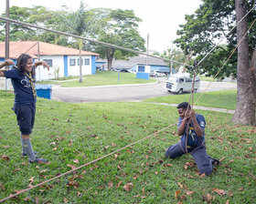
[[[208,158],[207,148],[204,143],[201,146],[187,148],[187,153],[190,153],[195,159],[200,174],[205,173],[207,176],[211,174],[213,166]],[[186,147],[181,142],[178,142],[176,145],[166,149],[165,158],[177,158],[184,154],[186,154]]]

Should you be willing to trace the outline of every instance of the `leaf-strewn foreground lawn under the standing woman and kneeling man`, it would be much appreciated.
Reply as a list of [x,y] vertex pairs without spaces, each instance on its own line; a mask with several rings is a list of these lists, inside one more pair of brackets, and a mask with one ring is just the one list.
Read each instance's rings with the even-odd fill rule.
[[21,157],[13,100],[13,94],[0,91],[0,199],[172,127],[7,203],[256,200],[256,128],[230,124],[229,114],[199,110],[207,120],[208,154],[222,159],[211,176],[202,178],[190,155],[164,158],[165,149],[179,140],[176,107],[135,102],[71,104],[38,98],[32,145],[49,162],[28,165],[27,158]]

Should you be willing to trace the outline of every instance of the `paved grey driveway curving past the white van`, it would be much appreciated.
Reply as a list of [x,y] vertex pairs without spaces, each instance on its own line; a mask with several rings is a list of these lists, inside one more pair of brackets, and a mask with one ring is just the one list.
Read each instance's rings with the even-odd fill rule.
[[[105,87],[56,87],[52,89],[52,99],[64,102],[117,102],[139,101],[149,97],[173,95],[165,89],[165,77],[158,77],[157,83],[144,85],[123,85]],[[203,92],[209,82],[201,81],[198,92]],[[229,82],[212,82],[208,91],[236,89],[237,85]]]

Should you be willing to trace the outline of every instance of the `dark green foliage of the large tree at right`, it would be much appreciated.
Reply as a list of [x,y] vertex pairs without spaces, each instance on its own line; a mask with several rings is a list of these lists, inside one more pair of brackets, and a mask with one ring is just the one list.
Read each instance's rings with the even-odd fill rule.
[[[247,8],[252,8],[255,0],[247,1]],[[249,26],[256,17],[256,11],[248,15]],[[177,31],[179,36],[176,45],[180,46],[186,55],[192,54],[200,61],[208,51],[217,45],[219,40],[228,35],[233,26],[236,26],[235,1],[234,0],[202,0],[195,14],[186,15],[187,23],[180,25]],[[252,56],[256,43],[256,25],[251,28],[249,33],[249,49]],[[222,45],[208,56],[199,67],[200,73],[207,76],[215,76],[224,61],[229,57],[231,51],[237,45],[236,29],[234,29],[223,41]],[[193,62],[191,62],[193,64]],[[219,73],[219,78],[229,75],[237,76],[237,53],[229,59],[229,63]]]

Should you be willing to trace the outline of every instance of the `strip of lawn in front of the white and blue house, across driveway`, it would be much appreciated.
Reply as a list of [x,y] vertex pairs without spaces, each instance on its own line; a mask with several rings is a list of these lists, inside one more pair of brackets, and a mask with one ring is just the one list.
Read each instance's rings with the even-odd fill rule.
[[[119,77],[119,79],[118,79]],[[62,80],[56,82],[55,80],[37,82],[38,84],[60,84],[61,87],[92,87],[92,86],[108,86],[108,85],[129,85],[129,84],[146,84],[154,83],[155,79],[149,80],[136,78],[132,73],[123,73],[112,71],[97,72],[95,75],[83,76],[82,83],[79,82],[79,77],[70,77],[69,79],[77,78],[77,80]],[[63,78],[64,79],[64,78]]]

